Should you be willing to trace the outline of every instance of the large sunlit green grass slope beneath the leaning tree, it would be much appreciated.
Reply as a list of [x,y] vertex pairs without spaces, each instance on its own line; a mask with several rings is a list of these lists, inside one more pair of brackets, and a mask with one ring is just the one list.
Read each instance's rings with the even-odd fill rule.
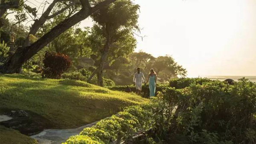
[[48,121],[47,128],[74,128],[122,108],[148,102],[82,81],[0,74],[0,109],[23,109]]

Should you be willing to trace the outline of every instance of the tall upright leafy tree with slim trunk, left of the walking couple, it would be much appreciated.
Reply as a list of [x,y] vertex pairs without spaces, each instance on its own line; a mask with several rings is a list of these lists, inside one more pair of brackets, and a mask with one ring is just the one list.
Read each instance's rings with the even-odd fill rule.
[[96,24],[93,26],[90,40],[94,43],[91,43],[92,49],[97,50],[99,57],[94,57],[97,69],[92,73],[88,82],[97,74],[98,85],[103,86],[105,63],[133,51],[136,46],[133,30],[139,29],[137,26],[138,9],[139,5],[131,0],[117,0],[92,15]]

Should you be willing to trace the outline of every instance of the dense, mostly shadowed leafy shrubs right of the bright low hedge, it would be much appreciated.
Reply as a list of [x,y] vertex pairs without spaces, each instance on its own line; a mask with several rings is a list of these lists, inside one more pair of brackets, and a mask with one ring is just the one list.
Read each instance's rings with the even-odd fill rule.
[[197,78],[171,84],[185,88],[167,88],[158,95],[154,112],[163,115],[155,118],[157,137],[176,143],[181,139],[204,144],[255,141],[255,83],[241,78],[229,85]]

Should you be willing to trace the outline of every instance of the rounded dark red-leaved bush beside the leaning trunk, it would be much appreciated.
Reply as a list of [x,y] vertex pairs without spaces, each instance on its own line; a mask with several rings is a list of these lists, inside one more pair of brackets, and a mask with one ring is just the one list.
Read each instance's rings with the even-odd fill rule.
[[46,78],[61,78],[61,74],[71,66],[67,55],[56,52],[45,52],[42,76]]

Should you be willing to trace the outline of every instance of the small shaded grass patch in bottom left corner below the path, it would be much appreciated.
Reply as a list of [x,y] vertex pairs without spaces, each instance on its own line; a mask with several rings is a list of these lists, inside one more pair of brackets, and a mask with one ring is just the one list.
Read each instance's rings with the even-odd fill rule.
[[35,139],[22,135],[17,130],[0,125],[0,144],[38,144]]

